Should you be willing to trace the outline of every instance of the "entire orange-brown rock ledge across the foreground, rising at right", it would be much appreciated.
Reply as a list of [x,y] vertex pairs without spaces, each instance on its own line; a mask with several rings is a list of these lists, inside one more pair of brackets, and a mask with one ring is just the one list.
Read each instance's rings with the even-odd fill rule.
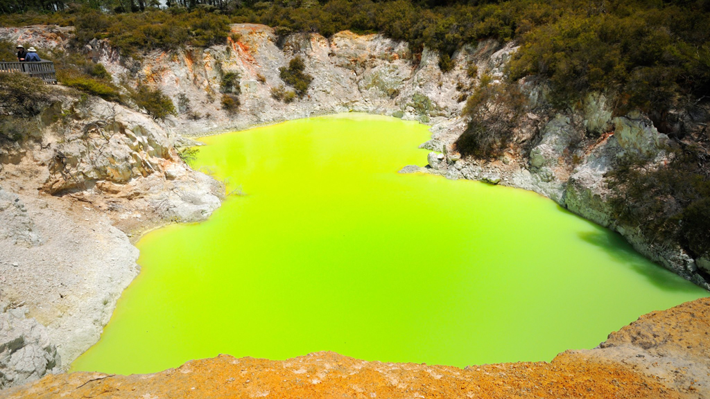
[[189,361],[154,374],[49,375],[11,388],[16,398],[706,398],[710,298],[651,312],[591,350],[552,362],[464,369],[381,363],[318,352],[285,361]]

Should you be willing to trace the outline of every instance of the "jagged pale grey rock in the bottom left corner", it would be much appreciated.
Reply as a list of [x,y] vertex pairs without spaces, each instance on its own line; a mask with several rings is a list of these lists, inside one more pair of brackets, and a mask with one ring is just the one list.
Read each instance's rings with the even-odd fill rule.
[[42,378],[59,363],[47,329],[27,310],[0,312],[0,389]]

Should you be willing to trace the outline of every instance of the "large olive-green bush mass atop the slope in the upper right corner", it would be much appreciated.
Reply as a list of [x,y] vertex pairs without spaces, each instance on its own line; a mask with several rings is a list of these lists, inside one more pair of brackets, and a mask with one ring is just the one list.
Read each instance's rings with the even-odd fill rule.
[[710,92],[709,14],[676,4],[632,5],[569,12],[533,28],[511,62],[513,78],[549,77],[559,105],[589,90],[611,92],[619,114],[638,108],[661,128],[662,114],[682,97]]

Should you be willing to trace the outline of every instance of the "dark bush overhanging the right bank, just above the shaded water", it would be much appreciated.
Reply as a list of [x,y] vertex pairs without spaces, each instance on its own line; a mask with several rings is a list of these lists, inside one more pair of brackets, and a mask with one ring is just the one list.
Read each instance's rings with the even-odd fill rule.
[[710,175],[704,151],[676,148],[670,163],[627,155],[607,174],[614,217],[657,244],[677,241],[692,256],[710,254]]

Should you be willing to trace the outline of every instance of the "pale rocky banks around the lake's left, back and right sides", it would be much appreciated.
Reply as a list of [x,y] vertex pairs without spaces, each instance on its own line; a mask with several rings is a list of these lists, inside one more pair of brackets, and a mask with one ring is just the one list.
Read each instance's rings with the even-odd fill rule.
[[[530,98],[540,98],[537,114],[526,116],[521,126],[527,127],[518,132],[520,143],[535,141],[532,160],[522,150],[492,162],[452,152],[466,129],[462,94],[484,73],[502,77],[513,43],[503,47],[489,40],[464,48],[444,74],[435,52],[425,49],[418,58],[406,43],[382,35],[279,38],[272,28],[253,24],[236,24],[231,32],[226,45],[155,51],[143,60],[126,60],[107,41],[92,40],[80,52],[101,62],[116,84],[157,87],[179,115],[154,120],[129,106],[57,87],[53,106],[38,117],[42,138],[0,148],[0,218],[11,221],[0,226],[0,388],[65,371],[98,341],[116,300],[138,273],[131,243],[141,232],[199,221],[219,207],[224,185],[180,159],[178,148],[192,143],[188,137],[322,114],[361,111],[429,124],[432,141],[424,147],[442,153],[430,155],[423,170],[539,192],[710,287],[697,273],[705,267],[701,260],[677,248],[655,248],[608,217],[602,176],[615,151],[657,151],[663,140],[644,116],[611,119],[603,97],[591,97],[570,115],[549,115],[544,84],[521,82]],[[43,49],[69,48],[71,38],[72,28],[0,28],[0,39]],[[314,80],[307,97],[285,104],[271,97],[271,89],[282,83],[279,67],[296,55]],[[479,70],[475,77],[469,77],[471,65]],[[239,73],[236,114],[220,104],[224,72]],[[586,143],[572,165],[564,150],[579,126],[613,126],[618,134]]]

